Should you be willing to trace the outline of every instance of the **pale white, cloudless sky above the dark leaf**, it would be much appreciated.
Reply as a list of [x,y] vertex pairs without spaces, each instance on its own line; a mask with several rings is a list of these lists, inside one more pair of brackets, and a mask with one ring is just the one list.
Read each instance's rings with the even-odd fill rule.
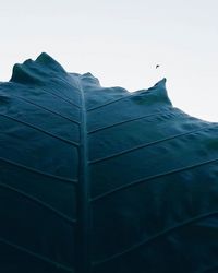
[[0,7],[1,82],[14,63],[46,51],[102,86],[133,92],[167,78],[173,106],[218,122],[217,0],[0,0]]

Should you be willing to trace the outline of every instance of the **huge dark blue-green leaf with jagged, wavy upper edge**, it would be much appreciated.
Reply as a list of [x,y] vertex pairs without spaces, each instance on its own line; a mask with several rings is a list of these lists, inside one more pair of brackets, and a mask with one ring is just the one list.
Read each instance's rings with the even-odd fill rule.
[[217,272],[217,123],[50,56],[0,84],[0,269]]

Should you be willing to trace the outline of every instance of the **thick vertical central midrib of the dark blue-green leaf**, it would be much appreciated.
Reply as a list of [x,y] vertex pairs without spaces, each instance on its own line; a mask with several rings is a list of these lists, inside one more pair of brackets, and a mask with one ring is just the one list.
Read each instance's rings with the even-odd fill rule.
[[76,228],[76,272],[90,272],[89,230],[90,230],[90,202],[88,176],[88,141],[85,95],[80,79],[76,79],[81,91],[81,126],[78,150],[78,185],[77,185],[77,228]]

